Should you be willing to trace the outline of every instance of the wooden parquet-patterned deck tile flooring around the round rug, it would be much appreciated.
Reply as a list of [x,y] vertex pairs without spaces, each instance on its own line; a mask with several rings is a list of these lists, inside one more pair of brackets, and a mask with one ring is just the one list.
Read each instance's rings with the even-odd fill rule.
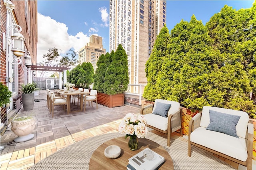
[[[46,99],[46,91],[40,90],[36,99]],[[88,104],[88,103],[87,103]],[[72,105],[76,108],[77,106]],[[26,142],[12,142],[17,136],[10,127],[1,136],[0,169],[1,170],[26,170],[40,160],[54,152],[80,140],[96,136],[98,134],[118,132],[121,119],[129,112],[139,113],[140,109],[135,107],[108,108],[102,105],[86,107],[86,112],[78,112],[67,115],[59,106],[54,108],[54,117],[49,115],[46,101],[36,102],[32,111],[24,111],[23,108],[18,115],[34,115],[36,127],[33,130],[33,139]],[[152,130],[156,134],[158,131]],[[187,142],[186,136],[180,137],[174,132],[172,137]],[[218,156],[217,156],[218,157]],[[238,164],[220,158],[238,169]]]

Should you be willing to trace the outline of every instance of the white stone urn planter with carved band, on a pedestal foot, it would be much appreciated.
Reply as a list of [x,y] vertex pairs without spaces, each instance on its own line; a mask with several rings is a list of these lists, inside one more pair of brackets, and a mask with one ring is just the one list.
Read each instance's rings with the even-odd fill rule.
[[14,142],[25,142],[34,138],[34,134],[31,132],[34,130],[36,124],[34,121],[34,117],[32,116],[24,116],[20,118],[30,118],[23,121],[17,121],[16,119],[12,120],[11,130],[14,134],[18,135],[17,138],[14,139]]

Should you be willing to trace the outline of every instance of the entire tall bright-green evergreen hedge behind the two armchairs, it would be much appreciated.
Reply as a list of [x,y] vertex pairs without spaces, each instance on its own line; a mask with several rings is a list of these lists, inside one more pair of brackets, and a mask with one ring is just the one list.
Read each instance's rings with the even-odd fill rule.
[[169,34],[164,26],[146,63],[143,97],[184,107],[210,105],[256,118],[256,3],[250,9],[224,6],[206,26],[193,15]]

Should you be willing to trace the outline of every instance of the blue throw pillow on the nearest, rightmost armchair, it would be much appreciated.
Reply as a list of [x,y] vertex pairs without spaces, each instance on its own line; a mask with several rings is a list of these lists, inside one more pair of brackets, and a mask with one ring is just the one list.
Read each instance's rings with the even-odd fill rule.
[[239,138],[236,134],[236,125],[240,119],[240,116],[220,113],[211,110],[209,110],[209,112],[210,124],[206,128],[207,130],[213,130]]

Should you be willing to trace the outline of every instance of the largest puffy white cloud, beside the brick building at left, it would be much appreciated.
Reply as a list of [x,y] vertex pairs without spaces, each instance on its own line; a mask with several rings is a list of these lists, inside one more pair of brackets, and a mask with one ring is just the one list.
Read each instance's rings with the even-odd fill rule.
[[[91,31],[96,32],[93,29]],[[56,22],[49,16],[38,13],[37,63],[43,61],[42,56],[47,54],[50,48],[58,48],[59,54],[62,56],[72,47],[74,51],[78,51],[88,42],[89,37],[83,32],[78,32],[76,36],[68,35],[66,24]]]

